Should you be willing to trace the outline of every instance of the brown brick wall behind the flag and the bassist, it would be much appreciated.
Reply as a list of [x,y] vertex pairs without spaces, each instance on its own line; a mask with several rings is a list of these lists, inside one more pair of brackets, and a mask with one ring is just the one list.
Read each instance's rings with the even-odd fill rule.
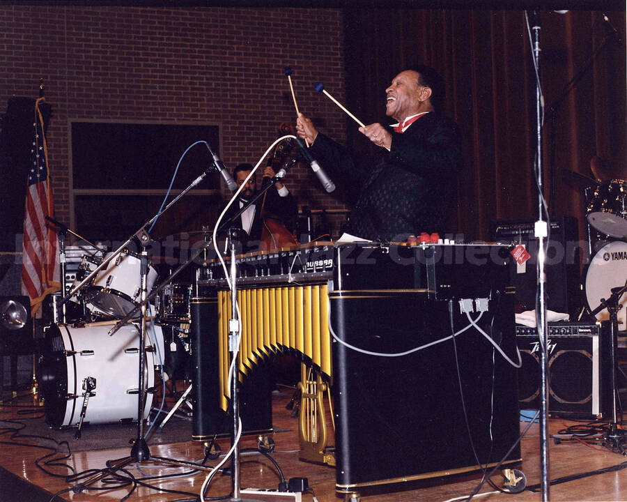
[[[0,112],[11,96],[36,97],[45,79],[61,221],[70,221],[68,131],[75,119],[215,123],[226,165],[254,163],[279,123],[295,119],[284,75],[291,66],[302,112],[343,140],[345,117],[313,87],[324,82],[345,101],[339,9],[18,5],[0,6],[0,19]],[[300,205],[344,207],[304,166],[286,184]]]

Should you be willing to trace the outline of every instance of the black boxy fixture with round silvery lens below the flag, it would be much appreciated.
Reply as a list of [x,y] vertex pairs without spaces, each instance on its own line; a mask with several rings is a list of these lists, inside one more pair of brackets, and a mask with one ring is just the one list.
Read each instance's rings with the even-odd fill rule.
[[34,353],[33,319],[28,296],[0,296],[0,345],[3,353]]

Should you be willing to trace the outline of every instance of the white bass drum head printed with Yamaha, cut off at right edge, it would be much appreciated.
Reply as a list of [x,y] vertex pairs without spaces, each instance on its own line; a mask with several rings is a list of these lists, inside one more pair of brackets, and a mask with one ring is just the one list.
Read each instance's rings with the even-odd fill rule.
[[[599,249],[586,271],[585,292],[589,311],[601,305],[602,298],[612,294],[612,288],[624,286],[627,283],[627,243],[613,241]],[[623,307],[618,312],[619,331],[627,330],[627,294],[619,298],[619,305]],[[605,321],[610,319],[607,309],[596,314],[596,319]]]

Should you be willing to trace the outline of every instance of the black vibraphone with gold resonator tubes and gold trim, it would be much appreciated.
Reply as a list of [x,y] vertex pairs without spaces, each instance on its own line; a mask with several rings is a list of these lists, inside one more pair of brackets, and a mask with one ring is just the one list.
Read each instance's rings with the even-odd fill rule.
[[[311,243],[242,255],[236,280],[240,379],[247,381],[275,354],[302,358],[301,458],[336,464],[339,492],[472,471],[479,469],[477,457],[495,465],[518,438],[516,369],[493,356],[493,345],[474,328],[455,343],[450,335],[470,324],[460,311],[465,299],[463,308],[477,305],[482,313],[473,319],[515,359],[509,259],[508,248],[485,244]],[[204,326],[211,335],[199,333],[197,340],[205,349],[208,336],[216,341],[204,360],[194,356],[192,341],[192,358],[205,379],[196,395],[206,409],[226,410],[230,292],[219,263],[204,265],[199,298],[213,305],[204,321],[215,324]],[[194,299],[192,326],[193,307]],[[325,448],[322,395],[328,388],[334,453]],[[518,447],[504,465],[516,462]]]

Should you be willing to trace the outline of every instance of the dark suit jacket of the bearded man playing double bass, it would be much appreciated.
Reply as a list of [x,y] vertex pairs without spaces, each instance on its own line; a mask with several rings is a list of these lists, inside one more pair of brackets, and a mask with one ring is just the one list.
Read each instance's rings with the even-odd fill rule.
[[[263,225],[263,219],[261,218],[261,204],[263,203],[263,196],[255,203],[255,215],[252,225],[250,227],[250,233],[247,234],[242,230],[240,235],[240,241],[242,243],[242,249],[244,252],[254,251],[259,247],[259,240],[261,239],[261,228]],[[265,192],[265,212],[274,215],[286,225],[290,225],[291,220],[296,215],[296,202],[292,193],[288,193],[286,197],[281,197],[276,188],[271,187],[268,192]],[[222,221],[226,221],[231,218],[232,215],[240,211],[240,202],[235,201],[233,205],[226,211]],[[231,225],[233,228],[242,229],[242,217],[238,216]]]

